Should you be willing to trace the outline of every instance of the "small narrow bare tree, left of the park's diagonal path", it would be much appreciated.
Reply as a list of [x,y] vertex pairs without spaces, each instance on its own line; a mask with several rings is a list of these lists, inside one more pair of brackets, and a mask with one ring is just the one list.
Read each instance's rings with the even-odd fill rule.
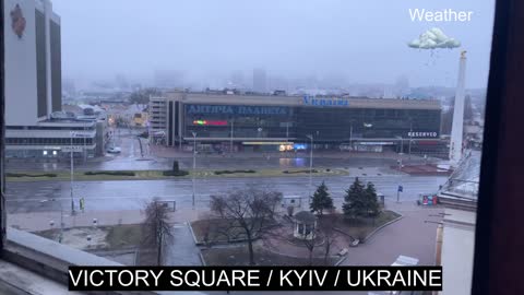
[[144,243],[156,248],[156,263],[162,264],[163,246],[167,238],[172,237],[169,224],[169,208],[154,198],[145,205],[143,223]]

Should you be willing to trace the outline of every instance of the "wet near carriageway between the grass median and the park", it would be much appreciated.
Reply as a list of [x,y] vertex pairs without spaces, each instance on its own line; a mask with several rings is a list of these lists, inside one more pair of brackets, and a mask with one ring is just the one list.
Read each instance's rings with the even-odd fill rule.
[[[421,177],[407,175],[361,176],[361,180],[372,181],[379,192],[389,200],[396,200],[398,184],[404,187],[401,200],[415,200],[419,193],[436,192],[445,177]],[[322,180],[327,185],[340,208],[344,191],[354,180],[353,176],[313,177],[313,185]],[[195,180],[195,206],[207,208],[210,194],[242,188],[246,184],[270,187],[284,196],[309,196],[309,177],[261,177],[261,178],[201,178]],[[60,204],[71,208],[69,181],[9,182],[7,203],[9,213],[60,211]],[[177,209],[192,208],[191,179],[169,180],[121,180],[121,181],[78,181],[73,185],[74,200],[85,199],[86,211],[135,210],[142,209],[147,200],[159,197],[174,200]]]

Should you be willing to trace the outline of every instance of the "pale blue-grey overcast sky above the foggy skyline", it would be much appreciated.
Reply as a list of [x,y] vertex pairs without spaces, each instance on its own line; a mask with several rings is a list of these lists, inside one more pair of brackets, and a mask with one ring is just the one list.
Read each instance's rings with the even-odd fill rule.
[[[456,82],[468,51],[468,87],[489,69],[493,0],[52,0],[61,16],[64,78],[147,79],[176,70],[198,79],[234,71],[412,86]],[[408,9],[473,11],[471,22],[412,22]],[[428,50],[407,43],[431,27],[462,42]],[[250,76],[248,76],[250,78]]]

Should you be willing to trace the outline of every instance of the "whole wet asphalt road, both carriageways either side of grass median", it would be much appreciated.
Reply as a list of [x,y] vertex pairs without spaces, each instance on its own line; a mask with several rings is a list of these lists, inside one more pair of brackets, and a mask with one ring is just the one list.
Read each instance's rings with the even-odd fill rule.
[[[136,132],[135,132],[136,133]],[[155,156],[172,154],[169,149],[153,146],[156,152],[151,153],[145,141],[142,142],[142,151],[139,139],[127,130],[121,130],[115,139],[116,145],[122,148],[122,153],[108,155],[105,158],[76,161],[74,168],[82,170],[118,170],[118,169],[169,169],[172,160],[180,163],[182,169],[192,167],[191,153],[181,153],[175,157]],[[144,157],[142,157],[142,153]],[[155,154],[155,155],[152,155]],[[262,168],[309,168],[309,153],[300,152],[295,157],[270,156],[265,154],[246,155],[238,157],[196,154],[198,169],[262,169]],[[420,162],[413,157],[412,163]],[[406,163],[406,162],[404,162]],[[348,167],[388,167],[396,165],[396,158],[391,156],[381,157],[380,154],[362,157],[341,153],[338,158],[323,156],[322,153],[313,155],[314,167],[348,168]],[[69,169],[68,160],[60,163],[34,163],[26,161],[8,163],[7,170],[63,170]],[[364,172],[362,170],[362,172]],[[374,175],[374,176],[371,176]],[[445,182],[445,177],[412,177],[407,175],[376,175],[360,177],[362,180],[372,181],[377,190],[385,194],[388,199],[396,199],[398,184],[404,187],[401,200],[415,200],[419,193],[436,192],[439,185]],[[343,201],[344,190],[349,187],[354,176],[314,177],[313,186],[322,180],[330,188],[335,199],[335,205],[340,208]],[[300,196],[306,199],[310,194],[309,177],[261,177],[261,178],[201,178],[195,180],[195,208],[207,208],[210,196],[226,192],[233,188],[240,188],[246,184],[270,187],[279,190],[284,196]],[[48,212],[60,211],[71,206],[71,187],[69,181],[38,181],[38,182],[9,182],[7,184],[7,203],[10,213]],[[153,197],[164,200],[176,201],[178,209],[192,208],[192,182],[191,179],[164,179],[164,180],[122,180],[122,181],[75,181],[73,185],[73,199],[78,206],[79,198],[85,199],[86,211],[111,211],[142,209],[145,202]]]

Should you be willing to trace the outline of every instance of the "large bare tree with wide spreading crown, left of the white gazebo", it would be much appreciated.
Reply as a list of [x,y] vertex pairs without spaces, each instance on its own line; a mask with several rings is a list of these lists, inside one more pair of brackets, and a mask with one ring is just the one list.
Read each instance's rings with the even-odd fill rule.
[[254,266],[253,241],[276,225],[275,212],[282,192],[254,187],[211,197],[211,210],[224,222],[228,236],[241,234],[248,243],[249,263]]

